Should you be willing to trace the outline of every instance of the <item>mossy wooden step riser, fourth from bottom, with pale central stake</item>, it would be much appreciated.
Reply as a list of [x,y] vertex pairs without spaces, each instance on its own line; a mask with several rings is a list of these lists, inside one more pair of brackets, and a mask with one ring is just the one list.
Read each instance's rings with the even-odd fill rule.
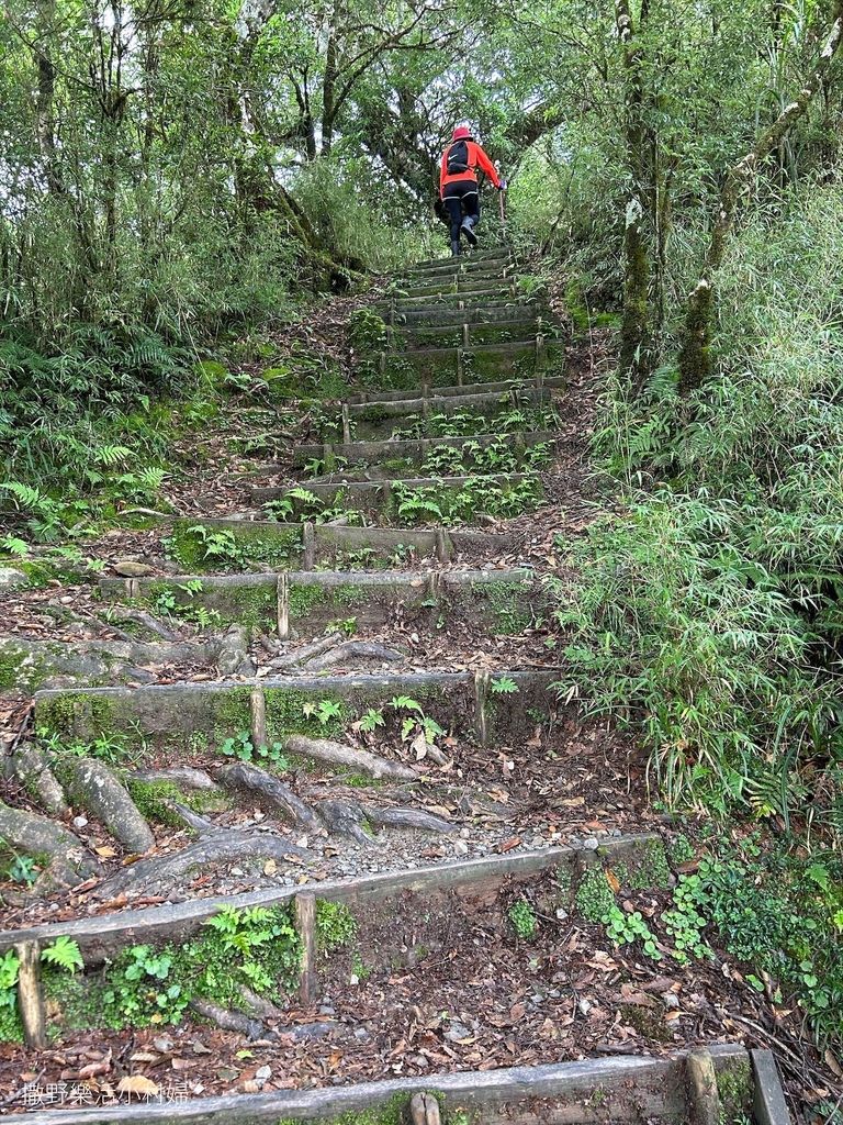
[[361,628],[383,626],[398,610],[417,630],[436,631],[439,621],[456,618],[507,634],[520,632],[547,609],[543,587],[523,569],[101,578],[99,588],[105,602],[147,605],[166,592],[179,605],[218,613],[224,626],[242,624],[282,640],[317,637],[351,616]]

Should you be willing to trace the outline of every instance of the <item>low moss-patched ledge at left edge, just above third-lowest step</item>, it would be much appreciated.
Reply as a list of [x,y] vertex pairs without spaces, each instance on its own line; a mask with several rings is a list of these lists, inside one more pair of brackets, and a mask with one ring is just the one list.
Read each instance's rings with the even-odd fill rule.
[[[85,684],[147,683],[147,665],[214,667],[223,638],[202,641],[44,641],[0,637],[0,692]],[[243,652],[245,658],[245,652]]]

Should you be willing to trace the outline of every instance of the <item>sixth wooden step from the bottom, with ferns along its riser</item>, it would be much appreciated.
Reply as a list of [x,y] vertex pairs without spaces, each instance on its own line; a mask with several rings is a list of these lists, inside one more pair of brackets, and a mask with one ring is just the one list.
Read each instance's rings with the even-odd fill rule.
[[[533,482],[529,496],[524,495],[526,480]],[[517,511],[507,514],[517,515],[532,506],[541,503],[543,492],[541,483],[535,472],[487,472],[475,476],[453,476],[453,477],[404,477],[386,478],[382,480],[345,480],[341,483],[316,483],[307,482],[301,487],[252,487],[248,489],[250,498],[254,504],[270,506],[273,502],[287,502],[292,511],[285,514],[285,519],[292,521],[305,519],[324,519],[323,513],[328,512],[362,512],[370,519],[389,523],[392,526],[411,526],[416,523],[429,523],[433,519],[429,508],[419,508],[417,504],[409,503],[408,490],[426,493],[427,497],[435,495],[435,504],[443,514],[437,515],[441,522],[446,525],[454,522],[463,522],[469,519],[468,512],[461,512],[459,518],[447,519],[447,507],[452,500],[457,500],[460,494],[465,494],[463,504],[472,511],[486,512],[487,507],[475,508],[468,497],[478,495],[488,497],[510,496],[518,494],[520,488]],[[302,492],[308,494],[308,498],[302,498]],[[310,500],[309,497],[314,497]],[[513,502],[515,503],[515,502]],[[495,513],[492,513],[495,514]]]

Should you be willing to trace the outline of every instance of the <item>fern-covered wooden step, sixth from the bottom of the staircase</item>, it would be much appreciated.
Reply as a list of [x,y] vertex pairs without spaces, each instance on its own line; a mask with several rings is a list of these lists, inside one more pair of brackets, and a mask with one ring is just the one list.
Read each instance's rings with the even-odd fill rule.
[[253,487],[250,493],[254,503],[283,505],[289,520],[357,512],[397,528],[435,522],[447,526],[472,522],[479,513],[517,515],[544,498],[541,480],[524,472],[308,482],[306,487]]

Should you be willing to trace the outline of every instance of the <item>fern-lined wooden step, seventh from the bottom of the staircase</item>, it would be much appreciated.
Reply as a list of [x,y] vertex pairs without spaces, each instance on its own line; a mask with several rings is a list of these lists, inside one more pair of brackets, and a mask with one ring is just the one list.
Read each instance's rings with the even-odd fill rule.
[[[395,475],[396,466],[400,464],[420,465],[427,457],[438,450],[453,449],[462,451],[468,444],[486,450],[491,446],[504,443],[517,457],[523,457],[527,450],[536,446],[553,446],[556,434],[553,430],[538,430],[531,433],[489,433],[475,438],[419,438],[408,441],[359,441],[350,446],[297,446],[293,450],[293,468],[305,468],[309,461],[323,461],[326,472],[334,469],[338,459],[350,466],[364,465],[365,471]],[[463,460],[471,464],[471,454],[463,453]],[[339,471],[339,470],[336,470]],[[263,475],[278,474],[278,465],[262,469]],[[254,477],[252,477],[254,479]]]

